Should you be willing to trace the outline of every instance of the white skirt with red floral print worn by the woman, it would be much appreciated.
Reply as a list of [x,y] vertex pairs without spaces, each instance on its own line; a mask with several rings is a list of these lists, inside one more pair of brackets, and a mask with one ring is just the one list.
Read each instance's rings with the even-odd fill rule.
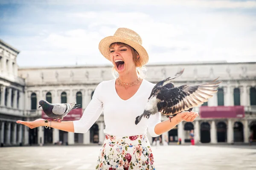
[[97,170],[155,170],[147,135],[117,137],[106,134]]

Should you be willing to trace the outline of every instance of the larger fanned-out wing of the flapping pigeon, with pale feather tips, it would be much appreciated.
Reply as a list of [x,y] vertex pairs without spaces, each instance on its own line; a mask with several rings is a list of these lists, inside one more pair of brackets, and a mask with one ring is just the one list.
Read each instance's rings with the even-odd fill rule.
[[221,82],[216,82],[216,80],[201,85],[182,85],[176,88],[163,87],[157,94],[157,99],[160,99],[157,104],[158,111],[163,115],[174,115],[207,102],[212,97],[211,94],[218,91],[214,89]]

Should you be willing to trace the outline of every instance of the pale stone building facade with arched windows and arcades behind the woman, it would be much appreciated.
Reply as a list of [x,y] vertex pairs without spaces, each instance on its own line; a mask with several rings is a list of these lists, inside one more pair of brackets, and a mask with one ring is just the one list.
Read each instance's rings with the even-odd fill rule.
[[[14,122],[17,119],[41,118],[42,110],[38,109],[40,99],[52,103],[76,101],[82,105],[84,111],[96,86],[102,81],[113,79],[111,66],[18,69],[18,53],[15,48],[1,41],[1,143],[26,145],[54,144],[61,141],[64,144],[101,144],[104,140],[104,113],[84,134],[52,128],[49,130],[45,127],[29,129]],[[175,86],[200,84],[218,77],[222,81],[218,93],[204,103],[204,108],[214,108],[219,114],[223,111],[223,116],[198,116],[194,122],[181,122],[169,132],[162,134],[162,139],[168,142],[177,142],[178,139],[181,139],[182,143],[189,142],[189,131],[193,129],[196,143],[247,143],[250,134],[256,140],[256,62],[195,62],[147,65],[146,68],[148,71],[145,79],[153,83],[173,76],[182,68],[185,68],[185,71],[174,79]],[[13,98],[19,100],[15,102]],[[240,116],[224,115],[225,109],[233,109],[232,111],[236,112],[237,106],[243,108]],[[203,107],[193,108],[193,111],[200,114],[201,108]],[[162,121],[164,120],[167,120],[166,116],[162,116]],[[149,139],[151,142],[154,140],[151,137]]]

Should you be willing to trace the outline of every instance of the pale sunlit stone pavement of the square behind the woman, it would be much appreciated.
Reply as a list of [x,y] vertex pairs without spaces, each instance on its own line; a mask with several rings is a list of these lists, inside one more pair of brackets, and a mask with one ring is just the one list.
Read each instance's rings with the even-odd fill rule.
[[[0,148],[0,170],[94,170],[100,146]],[[153,146],[156,170],[256,170],[256,147]]]

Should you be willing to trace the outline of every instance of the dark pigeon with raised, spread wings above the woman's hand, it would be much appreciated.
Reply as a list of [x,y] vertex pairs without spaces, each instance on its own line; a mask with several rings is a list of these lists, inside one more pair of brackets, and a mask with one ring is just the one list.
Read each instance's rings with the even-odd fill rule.
[[136,117],[135,124],[137,125],[143,117],[149,118],[150,115],[160,112],[169,117],[172,117],[182,111],[192,111],[193,107],[202,105],[212,97],[211,94],[216,93],[214,90],[221,82],[203,83],[200,85],[181,85],[174,87],[172,79],[183,74],[183,70],[176,73],[174,77],[168,77],[158,82],[151,91],[148,102],[145,106],[143,114]]

